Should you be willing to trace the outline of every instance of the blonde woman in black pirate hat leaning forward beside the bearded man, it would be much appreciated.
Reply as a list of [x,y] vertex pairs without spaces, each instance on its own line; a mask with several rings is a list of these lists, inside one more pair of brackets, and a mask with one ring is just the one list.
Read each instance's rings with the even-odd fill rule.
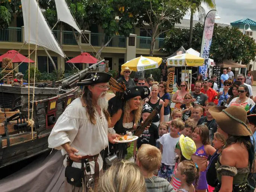
[[[110,87],[111,85],[110,82]],[[131,135],[140,121],[142,99],[148,97],[149,94],[150,90],[147,86],[123,87],[121,91],[116,90],[116,96],[108,101],[108,112],[111,117],[108,127],[112,129],[112,134]],[[110,153],[116,153],[119,160],[125,158],[126,149],[130,143],[114,143],[112,138],[108,140]]]

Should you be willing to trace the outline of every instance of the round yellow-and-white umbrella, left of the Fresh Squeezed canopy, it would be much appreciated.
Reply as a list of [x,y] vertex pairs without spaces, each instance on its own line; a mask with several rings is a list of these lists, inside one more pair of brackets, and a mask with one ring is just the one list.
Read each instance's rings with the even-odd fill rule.
[[124,69],[125,67],[129,67],[131,70],[138,72],[138,71],[158,68],[161,63],[162,63],[162,58],[160,57],[140,56],[140,57],[131,59],[130,61],[127,61],[125,64],[122,65],[121,69]]

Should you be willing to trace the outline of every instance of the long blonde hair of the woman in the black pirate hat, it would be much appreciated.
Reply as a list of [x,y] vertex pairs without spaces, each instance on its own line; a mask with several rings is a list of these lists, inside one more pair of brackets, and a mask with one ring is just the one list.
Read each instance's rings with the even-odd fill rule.
[[[133,98],[131,98],[131,99],[133,99]],[[125,105],[124,105],[124,107],[123,107],[123,113],[124,113],[124,118],[125,118],[124,122],[125,122],[125,123],[130,123],[130,122],[129,122],[129,119],[130,119],[130,113],[131,113],[131,111],[130,111],[130,104],[129,104],[129,101],[130,101],[130,99],[127,100],[127,101],[125,101]],[[137,125],[137,123],[138,123],[139,120],[140,120],[141,111],[142,111],[142,102],[140,101],[139,108],[138,108],[137,110],[134,110],[134,111],[133,111],[133,115],[134,115],[133,119],[134,119],[134,123],[135,123],[136,125]]]

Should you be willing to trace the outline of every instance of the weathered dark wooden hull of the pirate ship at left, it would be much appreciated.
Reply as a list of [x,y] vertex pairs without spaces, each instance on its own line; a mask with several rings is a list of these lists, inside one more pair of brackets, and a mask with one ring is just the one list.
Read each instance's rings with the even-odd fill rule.
[[[58,88],[35,87],[33,134],[27,123],[28,87],[12,87],[11,85],[0,85],[0,87],[2,90],[0,93],[0,105],[2,106],[2,111],[0,111],[0,168],[2,168],[50,150],[48,136],[67,105],[77,97],[79,87],[70,88],[62,94],[59,94]],[[30,87],[29,92],[31,116],[33,87]],[[18,109],[11,112],[12,108]],[[14,118],[10,119],[12,116]]]

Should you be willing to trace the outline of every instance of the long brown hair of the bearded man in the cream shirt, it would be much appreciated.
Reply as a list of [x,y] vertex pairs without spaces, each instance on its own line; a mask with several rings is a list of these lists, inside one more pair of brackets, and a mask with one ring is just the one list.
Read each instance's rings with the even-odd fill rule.
[[[91,91],[88,89],[87,86],[84,86],[83,90],[82,90],[82,95],[81,95],[81,102],[82,102],[82,106],[86,107],[87,109],[87,116],[89,117],[90,121],[92,124],[96,124],[96,116],[95,116],[95,106],[93,105],[93,101],[92,101],[92,93]],[[102,109],[107,122],[110,123],[110,115],[107,111],[107,109]]]

